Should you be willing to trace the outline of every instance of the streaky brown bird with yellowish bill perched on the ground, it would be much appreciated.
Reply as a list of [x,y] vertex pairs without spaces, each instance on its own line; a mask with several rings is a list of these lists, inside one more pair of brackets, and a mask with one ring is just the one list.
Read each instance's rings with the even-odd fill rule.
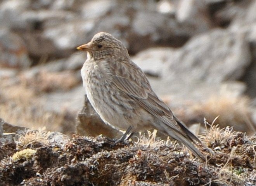
[[126,131],[125,134],[157,129],[205,161],[197,149],[201,140],[156,95],[121,41],[109,33],[100,32],[77,49],[87,52],[81,69],[85,93],[106,124]]

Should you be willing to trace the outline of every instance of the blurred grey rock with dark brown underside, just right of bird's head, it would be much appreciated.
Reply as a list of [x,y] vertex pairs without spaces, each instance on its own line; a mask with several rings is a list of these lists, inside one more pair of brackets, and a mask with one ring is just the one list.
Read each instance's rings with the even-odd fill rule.
[[151,46],[180,47],[190,37],[188,28],[168,15],[149,11],[138,11],[134,15],[127,38],[131,53]]

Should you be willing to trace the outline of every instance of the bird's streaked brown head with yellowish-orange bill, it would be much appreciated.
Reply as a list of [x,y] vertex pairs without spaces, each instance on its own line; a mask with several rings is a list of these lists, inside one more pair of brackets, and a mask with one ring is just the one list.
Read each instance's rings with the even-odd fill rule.
[[128,55],[123,43],[105,32],[95,34],[89,43],[81,45],[77,49],[88,52],[93,59],[119,58]]

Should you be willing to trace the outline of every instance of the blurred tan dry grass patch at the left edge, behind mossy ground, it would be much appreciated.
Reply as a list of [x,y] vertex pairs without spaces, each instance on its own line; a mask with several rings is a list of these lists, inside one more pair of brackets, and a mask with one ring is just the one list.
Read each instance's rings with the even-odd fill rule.
[[49,131],[60,131],[64,116],[45,111],[35,91],[20,83],[0,84],[0,90],[0,117],[5,121],[31,129],[45,126]]

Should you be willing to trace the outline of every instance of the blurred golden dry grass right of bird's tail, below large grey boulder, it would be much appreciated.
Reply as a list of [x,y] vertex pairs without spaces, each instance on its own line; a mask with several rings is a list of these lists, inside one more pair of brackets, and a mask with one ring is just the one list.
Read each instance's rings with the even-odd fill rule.
[[193,104],[190,110],[190,120],[197,121],[206,117],[208,121],[213,121],[219,115],[216,122],[221,128],[234,126],[235,131],[244,131],[249,135],[256,132],[256,124],[251,120],[250,100],[247,97],[212,96],[205,102]]

